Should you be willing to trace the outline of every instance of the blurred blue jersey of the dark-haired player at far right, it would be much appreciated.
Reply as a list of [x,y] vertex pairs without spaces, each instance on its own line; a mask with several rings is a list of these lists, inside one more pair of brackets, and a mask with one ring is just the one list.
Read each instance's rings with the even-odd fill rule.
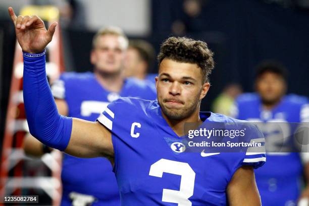
[[[286,95],[272,110],[264,110],[261,98],[256,93],[245,93],[235,100],[233,117],[251,122],[308,122],[309,107],[305,97]],[[261,125],[262,126],[262,125]],[[262,126],[263,127],[263,126]],[[289,128],[290,126],[287,125]],[[262,131],[263,128],[260,128]],[[273,131],[270,131],[272,129]],[[266,131],[267,130],[267,131]],[[296,205],[300,194],[302,163],[297,152],[278,152],[276,137],[289,137],[293,131],[265,128],[268,157],[264,167],[255,171],[263,205]],[[287,133],[288,132],[288,133]],[[282,138],[279,139],[281,141]],[[288,141],[288,140],[287,140]],[[271,145],[270,145],[271,144]],[[271,152],[273,151],[273,152]],[[277,152],[276,152],[277,151]]]

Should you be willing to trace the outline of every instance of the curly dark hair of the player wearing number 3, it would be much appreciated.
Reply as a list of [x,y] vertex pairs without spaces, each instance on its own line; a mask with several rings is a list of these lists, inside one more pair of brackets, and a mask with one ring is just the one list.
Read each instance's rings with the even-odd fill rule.
[[207,43],[187,37],[170,37],[166,39],[158,54],[158,64],[167,58],[177,62],[197,64],[201,68],[202,82],[209,82],[209,75],[214,69],[214,53]]

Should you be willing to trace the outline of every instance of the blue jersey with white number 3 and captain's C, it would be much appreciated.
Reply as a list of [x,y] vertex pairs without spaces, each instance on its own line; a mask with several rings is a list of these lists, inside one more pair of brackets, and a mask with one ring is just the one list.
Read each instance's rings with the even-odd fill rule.
[[[238,121],[214,113],[200,116],[205,122]],[[156,100],[119,98],[97,121],[112,133],[122,205],[227,205],[226,188],[234,172],[266,161],[265,152],[175,152],[182,137],[163,118]],[[261,135],[264,140],[254,127],[254,137]]]

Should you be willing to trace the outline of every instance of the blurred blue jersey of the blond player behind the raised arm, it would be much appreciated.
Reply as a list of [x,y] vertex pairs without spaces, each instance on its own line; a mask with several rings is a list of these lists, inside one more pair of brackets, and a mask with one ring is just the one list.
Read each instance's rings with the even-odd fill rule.
[[[53,84],[52,92],[54,97],[67,102],[69,117],[88,121],[95,121],[107,105],[120,96],[157,98],[153,86],[133,78],[124,81],[119,93],[107,91],[90,72],[63,73]],[[115,174],[105,158],[82,159],[64,154],[62,183],[62,205],[72,205],[70,196],[74,199],[79,194],[94,198],[91,205],[120,205]]]

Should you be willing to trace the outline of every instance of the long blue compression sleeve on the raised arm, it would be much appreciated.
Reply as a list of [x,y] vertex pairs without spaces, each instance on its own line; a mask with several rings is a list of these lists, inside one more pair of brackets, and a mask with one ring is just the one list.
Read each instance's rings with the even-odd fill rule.
[[72,118],[58,113],[45,72],[45,52],[24,53],[24,104],[30,133],[47,146],[65,150]]

